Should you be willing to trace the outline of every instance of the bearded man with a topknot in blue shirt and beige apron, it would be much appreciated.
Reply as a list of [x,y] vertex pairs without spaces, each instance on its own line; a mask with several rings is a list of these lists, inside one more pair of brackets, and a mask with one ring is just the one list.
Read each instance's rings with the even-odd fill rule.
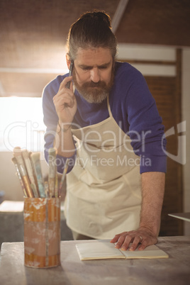
[[116,62],[116,52],[106,13],[84,13],[72,24],[72,76],[58,76],[43,91],[45,158],[57,147],[60,173],[69,158],[65,216],[74,239],[143,250],[160,229],[164,127],[143,75]]

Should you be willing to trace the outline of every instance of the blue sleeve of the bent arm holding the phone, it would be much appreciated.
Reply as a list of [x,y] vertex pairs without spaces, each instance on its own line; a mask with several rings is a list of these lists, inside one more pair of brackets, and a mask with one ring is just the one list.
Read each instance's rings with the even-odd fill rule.
[[[59,76],[56,79],[54,79],[50,84],[47,84],[45,86],[45,89],[43,90],[43,121],[46,125],[46,132],[45,132],[45,147],[44,147],[44,155],[45,160],[48,163],[48,150],[50,147],[53,147],[54,141],[57,138],[57,122],[58,122],[58,116],[55,110],[55,105],[53,104],[53,97],[55,94],[57,94],[57,91],[59,90],[60,83],[62,82],[63,77]],[[60,155],[57,155],[56,157],[56,164],[57,164],[57,172],[62,173],[65,168],[65,162],[68,157],[62,157]],[[74,167],[74,162],[76,160],[76,150],[74,155],[72,157],[69,157],[69,164],[67,173],[69,173],[72,168]]]

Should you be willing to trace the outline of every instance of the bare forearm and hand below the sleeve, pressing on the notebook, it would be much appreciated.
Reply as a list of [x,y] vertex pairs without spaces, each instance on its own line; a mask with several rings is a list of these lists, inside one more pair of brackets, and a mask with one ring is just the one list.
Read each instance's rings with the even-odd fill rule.
[[[139,250],[144,250],[147,245],[157,243],[160,229],[160,216],[164,199],[163,172],[145,172],[142,174],[142,207],[140,213],[140,227],[138,230],[124,232],[116,235],[111,242],[117,242],[116,248],[135,250],[141,243]],[[141,238],[140,238],[141,237]]]

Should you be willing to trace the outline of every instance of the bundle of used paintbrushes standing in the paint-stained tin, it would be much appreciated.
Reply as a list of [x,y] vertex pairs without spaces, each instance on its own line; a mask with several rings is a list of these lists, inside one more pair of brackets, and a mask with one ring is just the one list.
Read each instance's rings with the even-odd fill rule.
[[16,174],[21,182],[23,194],[30,198],[52,198],[60,197],[62,185],[67,173],[69,160],[65,163],[62,179],[58,185],[55,147],[49,152],[49,174],[48,181],[44,181],[40,165],[40,152],[28,152],[15,147],[12,162],[16,167]]

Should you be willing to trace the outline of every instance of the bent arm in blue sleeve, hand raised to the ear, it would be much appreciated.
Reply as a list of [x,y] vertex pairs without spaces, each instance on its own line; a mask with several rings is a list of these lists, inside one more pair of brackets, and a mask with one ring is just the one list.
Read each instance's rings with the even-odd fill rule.
[[[45,133],[45,160],[48,162],[48,150],[50,147],[57,147],[57,172],[62,173],[67,157],[69,168],[72,170],[76,158],[76,150],[71,132],[71,124],[74,113],[77,110],[77,102],[72,91],[65,85],[72,77],[62,76],[54,79],[43,91],[43,114],[44,123],[47,127]],[[56,95],[55,95],[56,94]],[[60,125],[57,125],[59,122]],[[60,126],[62,130],[60,130]],[[67,130],[68,129],[68,130]]]

